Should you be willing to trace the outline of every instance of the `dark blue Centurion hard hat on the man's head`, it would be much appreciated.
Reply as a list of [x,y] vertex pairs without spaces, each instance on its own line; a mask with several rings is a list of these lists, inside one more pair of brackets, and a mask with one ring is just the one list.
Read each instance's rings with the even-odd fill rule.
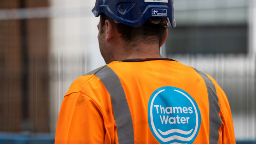
[[103,12],[132,27],[142,26],[150,17],[169,18],[172,27],[176,26],[173,0],[96,0],[92,12],[95,17]]

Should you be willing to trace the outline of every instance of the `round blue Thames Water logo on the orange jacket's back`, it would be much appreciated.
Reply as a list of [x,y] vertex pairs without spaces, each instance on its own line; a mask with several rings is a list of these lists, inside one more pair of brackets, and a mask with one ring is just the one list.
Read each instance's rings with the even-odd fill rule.
[[161,144],[192,144],[201,124],[196,101],[176,87],[162,87],[151,95],[148,123]]

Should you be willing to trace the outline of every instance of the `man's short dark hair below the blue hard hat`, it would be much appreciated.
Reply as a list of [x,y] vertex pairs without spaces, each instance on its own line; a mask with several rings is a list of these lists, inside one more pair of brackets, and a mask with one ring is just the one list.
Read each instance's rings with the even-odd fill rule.
[[[109,18],[106,14],[101,13],[100,14],[101,30],[103,30],[106,20],[110,20],[112,23],[114,23],[114,20]],[[164,37],[164,32],[166,30],[166,28],[163,25],[161,24],[155,25],[151,23],[149,20],[147,20],[146,23],[140,27],[132,27],[122,23],[118,23],[115,25],[118,33],[121,34],[121,37],[123,38],[123,40],[130,46],[136,45],[138,42],[153,44],[153,43],[156,43],[156,41],[158,40],[159,47],[160,47]]]

